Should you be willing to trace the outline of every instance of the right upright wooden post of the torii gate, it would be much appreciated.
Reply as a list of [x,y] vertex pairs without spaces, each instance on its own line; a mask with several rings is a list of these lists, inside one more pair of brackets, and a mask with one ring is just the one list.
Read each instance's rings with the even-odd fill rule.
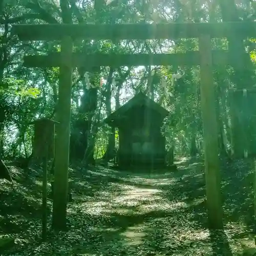
[[202,34],[199,37],[199,51],[208,222],[210,229],[223,229],[218,129],[209,35]]

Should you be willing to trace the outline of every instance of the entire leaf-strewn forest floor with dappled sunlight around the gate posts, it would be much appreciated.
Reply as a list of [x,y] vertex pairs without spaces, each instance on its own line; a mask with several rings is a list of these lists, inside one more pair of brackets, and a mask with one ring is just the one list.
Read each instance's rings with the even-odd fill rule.
[[[15,239],[1,255],[239,255],[253,247],[253,161],[222,167],[225,231],[209,231],[203,161],[146,174],[97,167],[70,169],[74,201],[69,231],[41,243],[41,170],[10,167],[0,180],[0,237]],[[50,191],[50,184],[49,184]],[[49,228],[52,201],[49,200]]]

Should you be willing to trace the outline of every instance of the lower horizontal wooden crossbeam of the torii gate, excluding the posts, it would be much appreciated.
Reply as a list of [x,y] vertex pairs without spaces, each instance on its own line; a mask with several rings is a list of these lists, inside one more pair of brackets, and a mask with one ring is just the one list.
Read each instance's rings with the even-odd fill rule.
[[[228,51],[212,51],[212,62],[214,65],[231,64]],[[59,67],[62,63],[60,53],[49,55],[27,55],[24,57],[26,67]],[[73,53],[72,67],[87,67],[88,69],[100,66],[122,67],[122,66],[196,66],[200,65],[200,54],[198,51],[174,54],[83,54]]]

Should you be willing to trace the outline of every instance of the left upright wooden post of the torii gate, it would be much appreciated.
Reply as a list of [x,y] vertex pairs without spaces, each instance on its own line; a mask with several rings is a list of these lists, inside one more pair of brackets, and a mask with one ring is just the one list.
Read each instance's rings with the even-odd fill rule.
[[62,63],[59,68],[59,93],[56,125],[56,154],[54,170],[53,219],[52,227],[56,230],[66,229],[70,118],[72,93],[72,52],[73,42],[70,37],[61,42]]

